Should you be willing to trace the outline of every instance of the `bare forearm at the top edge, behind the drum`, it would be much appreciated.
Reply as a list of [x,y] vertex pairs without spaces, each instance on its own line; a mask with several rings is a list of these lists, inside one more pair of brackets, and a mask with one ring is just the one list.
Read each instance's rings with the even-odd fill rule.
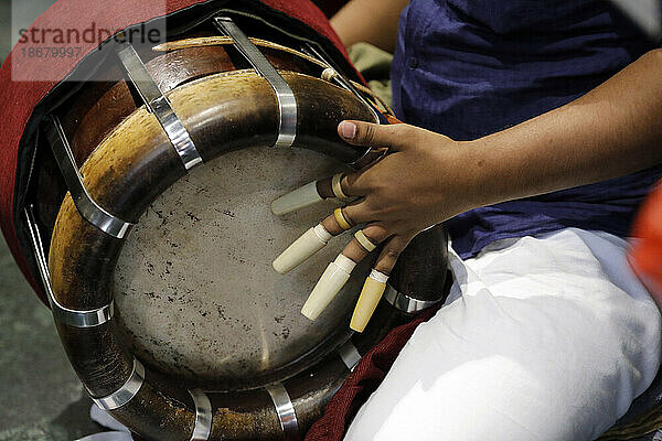
[[331,19],[345,46],[357,42],[393,52],[398,19],[408,0],[352,0]]

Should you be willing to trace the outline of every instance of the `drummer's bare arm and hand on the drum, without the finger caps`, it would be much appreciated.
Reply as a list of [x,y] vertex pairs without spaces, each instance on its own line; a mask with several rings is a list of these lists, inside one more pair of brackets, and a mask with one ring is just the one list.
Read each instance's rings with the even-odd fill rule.
[[[476,141],[458,142],[408,125],[344,121],[339,133],[389,154],[342,181],[363,196],[343,208],[375,241],[375,269],[388,273],[426,227],[483,205],[632,173],[662,162],[662,50],[649,52],[587,95]],[[330,216],[332,234],[341,228]],[[359,261],[354,241],[343,251]]]

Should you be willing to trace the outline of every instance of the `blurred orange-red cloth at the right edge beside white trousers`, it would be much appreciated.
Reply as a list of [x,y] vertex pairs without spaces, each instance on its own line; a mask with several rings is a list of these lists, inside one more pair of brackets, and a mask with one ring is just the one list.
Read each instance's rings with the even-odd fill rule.
[[632,236],[637,239],[629,250],[630,265],[662,308],[662,181],[641,206]]

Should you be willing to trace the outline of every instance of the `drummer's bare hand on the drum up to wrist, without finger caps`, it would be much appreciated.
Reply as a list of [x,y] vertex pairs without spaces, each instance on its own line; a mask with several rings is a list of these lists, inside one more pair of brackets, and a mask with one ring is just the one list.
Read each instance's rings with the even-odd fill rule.
[[[360,197],[343,208],[348,222],[363,224],[371,240],[384,244],[375,263],[380,272],[391,272],[418,233],[483,202],[481,164],[462,142],[404,123],[343,121],[338,132],[354,146],[388,148],[380,161],[341,181],[345,194]],[[333,235],[342,232],[334,216],[322,225]],[[354,261],[366,255],[355,239],[343,254]]]

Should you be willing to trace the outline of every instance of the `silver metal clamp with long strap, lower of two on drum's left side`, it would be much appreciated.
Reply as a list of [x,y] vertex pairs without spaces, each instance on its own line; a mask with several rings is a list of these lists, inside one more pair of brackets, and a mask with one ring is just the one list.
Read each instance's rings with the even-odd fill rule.
[[99,326],[113,319],[115,314],[115,302],[110,301],[109,304],[98,308],[92,311],[76,311],[68,308],[64,308],[55,299],[53,287],[51,286],[51,275],[49,272],[49,265],[46,262],[46,256],[44,252],[43,243],[39,233],[39,226],[34,218],[32,207],[28,206],[24,209],[25,220],[30,238],[32,240],[32,247],[34,249],[34,256],[36,259],[36,267],[46,290],[46,297],[51,304],[51,311],[55,321],[74,327],[95,327]]

